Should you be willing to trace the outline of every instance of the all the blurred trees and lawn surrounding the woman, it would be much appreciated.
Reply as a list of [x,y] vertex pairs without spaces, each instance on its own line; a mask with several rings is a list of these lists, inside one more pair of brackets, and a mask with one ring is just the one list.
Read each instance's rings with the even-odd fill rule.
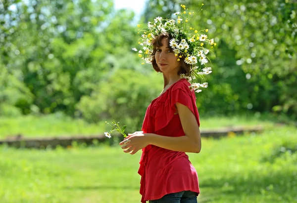
[[[103,134],[113,119],[140,130],[163,78],[132,50],[137,24],[202,3],[191,25],[217,45],[196,95],[201,129],[265,127],[203,139],[190,155],[199,200],[297,202],[295,0],[0,0],[0,139]],[[110,142],[0,153],[1,203],[140,202],[140,153]]]

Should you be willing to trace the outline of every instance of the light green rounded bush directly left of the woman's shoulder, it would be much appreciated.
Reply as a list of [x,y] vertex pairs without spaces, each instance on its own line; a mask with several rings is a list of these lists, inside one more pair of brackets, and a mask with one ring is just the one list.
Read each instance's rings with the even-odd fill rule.
[[156,77],[155,72],[141,74],[133,70],[115,70],[91,96],[82,97],[77,109],[90,122],[112,118],[126,124],[127,131],[137,131],[150,101],[160,93],[160,77]]

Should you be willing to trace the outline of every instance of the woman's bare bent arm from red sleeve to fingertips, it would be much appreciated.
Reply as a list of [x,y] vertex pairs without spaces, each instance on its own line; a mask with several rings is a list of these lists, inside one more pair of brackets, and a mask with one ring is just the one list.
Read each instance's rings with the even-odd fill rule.
[[185,136],[168,137],[152,133],[133,133],[125,138],[131,140],[128,144],[124,144],[125,140],[120,143],[125,153],[135,154],[147,145],[155,145],[178,152],[199,153],[201,150],[201,136],[195,115],[185,105],[176,103],[177,111],[182,123]]

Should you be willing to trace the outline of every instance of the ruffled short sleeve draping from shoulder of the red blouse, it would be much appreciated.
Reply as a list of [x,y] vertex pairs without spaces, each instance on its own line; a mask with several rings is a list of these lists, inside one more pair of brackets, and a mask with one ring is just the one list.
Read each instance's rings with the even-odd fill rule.
[[190,90],[188,84],[190,85],[186,80],[177,82],[172,88],[166,91],[166,95],[162,95],[163,97],[157,100],[154,105],[154,131],[164,128],[172,120],[177,102],[187,106],[195,115],[198,125],[200,125],[195,92]]

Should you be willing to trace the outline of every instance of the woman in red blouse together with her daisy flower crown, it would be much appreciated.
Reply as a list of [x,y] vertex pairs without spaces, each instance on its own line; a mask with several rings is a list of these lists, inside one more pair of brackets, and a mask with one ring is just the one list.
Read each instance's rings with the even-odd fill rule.
[[[185,9],[184,5],[182,7]],[[177,15],[180,20],[185,18]],[[138,171],[142,176],[142,203],[197,203],[198,175],[186,152],[201,150],[199,114],[193,90],[199,92],[198,88],[207,87],[207,83],[191,84],[189,81],[211,72],[210,68],[199,72],[200,68],[194,66],[198,56],[199,62],[205,63],[203,56],[208,50],[198,41],[201,36],[187,37],[188,32],[182,30],[185,26],[175,27],[172,20],[162,24],[161,20],[158,17],[154,25],[148,23],[148,31],[140,44],[150,54],[154,70],[163,74],[164,88],[148,106],[142,131],[128,134],[120,145],[125,153],[132,155],[142,149]],[[182,29],[178,30],[179,27]],[[208,42],[211,44],[213,40]]]

